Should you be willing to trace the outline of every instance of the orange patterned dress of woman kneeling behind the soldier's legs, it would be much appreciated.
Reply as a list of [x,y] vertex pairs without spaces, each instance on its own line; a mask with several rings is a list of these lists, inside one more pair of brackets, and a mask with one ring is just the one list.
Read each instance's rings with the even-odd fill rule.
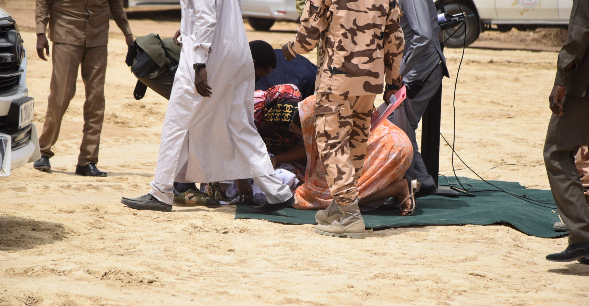
[[[296,191],[296,209],[325,209],[332,201],[325,180],[325,168],[319,160],[315,141],[315,96],[309,96],[299,102],[300,123],[303,130],[307,167],[305,183]],[[358,180],[359,197],[382,190],[389,184],[403,179],[413,158],[413,147],[409,137],[399,127],[385,120],[376,130],[370,133],[364,171]],[[378,207],[386,199],[378,203],[365,203],[366,206]]]

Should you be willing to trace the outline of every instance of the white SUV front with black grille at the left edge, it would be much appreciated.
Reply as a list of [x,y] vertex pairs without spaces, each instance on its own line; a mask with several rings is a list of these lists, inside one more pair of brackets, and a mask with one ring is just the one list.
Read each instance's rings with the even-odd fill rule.
[[27,51],[16,22],[0,8],[0,179],[41,158],[26,78]]

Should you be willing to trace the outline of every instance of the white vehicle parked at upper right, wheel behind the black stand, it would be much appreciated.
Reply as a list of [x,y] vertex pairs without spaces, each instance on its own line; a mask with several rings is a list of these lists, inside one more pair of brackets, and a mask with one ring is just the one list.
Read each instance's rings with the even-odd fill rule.
[[[434,1],[439,7],[439,0]],[[572,7],[573,0],[444,0],[446,13],[455,15],[463,11],[472,16],[466,18],[466,27],[448,29],[441,39],[446,41],[445,46],[462,48],[465,38],[468,46],[480,32],[492,29],[491,25],[497,25],[502,32],[511,28],[564,27]]]

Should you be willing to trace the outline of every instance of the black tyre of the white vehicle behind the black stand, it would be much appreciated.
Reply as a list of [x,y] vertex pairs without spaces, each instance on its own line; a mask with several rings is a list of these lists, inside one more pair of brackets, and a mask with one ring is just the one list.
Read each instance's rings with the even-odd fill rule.
[[[444,46],[448,48],[462,48],[465,46],[465,38],[466,38],[466,46],[470,45],[474,41],[477,40],[479,33],[481,31],[481,22],[479,21],[477,12],[471,8],[471,6],[466,5],[465,1],[459,1],[460,5],[456,4],[456,2],[445,3],[444,8],[446,9],[446,13],[450,15],[460,14],[462,11],[468,15],[474,15],[465,19],[466,27],[456,26],[455,28],[447,29],[444,31],[443,35],[441,36],[441,41],[445,42]],[[461,11],[462,9],[462,11]],[[465,33],[466,29],[466,33]],[[454,35],[452,33],[456,32]]]

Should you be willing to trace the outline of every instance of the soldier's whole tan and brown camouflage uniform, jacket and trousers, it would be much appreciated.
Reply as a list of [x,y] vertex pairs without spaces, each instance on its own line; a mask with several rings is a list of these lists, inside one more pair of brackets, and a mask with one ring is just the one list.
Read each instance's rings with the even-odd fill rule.
[[336,203],[358,196],[374,99],[386,83],[401,85],[401,8],[396,0],[308,0],[289,52],[319,41],[315,132]]

